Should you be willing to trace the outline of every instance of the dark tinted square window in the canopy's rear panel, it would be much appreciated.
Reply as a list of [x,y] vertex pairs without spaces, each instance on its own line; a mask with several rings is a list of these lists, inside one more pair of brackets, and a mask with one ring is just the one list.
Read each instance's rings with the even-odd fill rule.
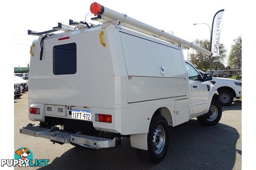
[[76,43],[53,47],[53,74],[76,73]]

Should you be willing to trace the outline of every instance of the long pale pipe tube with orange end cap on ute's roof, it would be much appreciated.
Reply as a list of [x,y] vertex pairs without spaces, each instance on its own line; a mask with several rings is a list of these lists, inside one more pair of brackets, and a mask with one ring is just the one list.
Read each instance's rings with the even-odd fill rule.
[[133,18],[130,18],[124,14],[121,14],[119,12],[116,12],[114,10],[111,10],[109,8],[106,8],[100,4],[98,4],[97,2],[94,2],[91,4],[90,6],[90,11],[92,12],[92,14],[96,15],[101,15],[104,16],[106,18],[109,18],[110,20],[119,20],[121,23],[125,23],[127,25],[131,25],[132,27],[136,27],[138,29],[142,29],[144,31],[147,31],[149,33],[152,33],[154,35],[156,35],[157,37],[163,37],[166,38],[170,41],[174,41],[175,43],[179,43],[185,47],[189,47],[192,48],[196,51],[199,51],[201,53],[204,53],[205,55],[211,56],[212,52],[199,47],[198,45],[195,45],[193,43],[190,43],[189,41],[186,41],[184,39],[181,39],[179,37],[176,37],[172,34],[166,33],[160,29],[157,29],[155,27],[152,27],[146,23],[143,23],[141,21],[135,20]]

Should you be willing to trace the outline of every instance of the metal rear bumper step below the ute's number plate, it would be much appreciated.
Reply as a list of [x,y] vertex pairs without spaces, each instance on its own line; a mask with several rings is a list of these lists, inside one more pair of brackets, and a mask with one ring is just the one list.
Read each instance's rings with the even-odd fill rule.
[[37,125],[32,125],[31,123],[25,127],[20,128],[20,133],[24,135],[30,135],[33,137],[42,137],[50,139],[51,141],[56,141],[58,143],[76,143],[84,147],[89,148],[110,148],[116,146],[116,137],[114,139],[94,137],[89,135],[74,134],[60,130],[58,127],[40,127]]

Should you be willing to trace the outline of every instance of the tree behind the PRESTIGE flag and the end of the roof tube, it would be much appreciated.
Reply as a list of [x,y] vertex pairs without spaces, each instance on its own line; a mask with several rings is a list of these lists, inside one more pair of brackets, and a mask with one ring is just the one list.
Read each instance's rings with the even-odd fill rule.
[[[199,40],[196,39],[194,44],[204,48],[210,49],[210,41],[207,39]],[[226,49],[225,46],[220,43],[220,56],[219,57],[212,57],[212,70],[214,70],[215,66],[218,66],[218,70],[225,68],[223,62],[226,59]],[[210,58],[208,55],[200,53],[199,51],[194,51],[190,53],[190,60],[191,63],[197,66],[197,69],[205,71],[210,70]]]

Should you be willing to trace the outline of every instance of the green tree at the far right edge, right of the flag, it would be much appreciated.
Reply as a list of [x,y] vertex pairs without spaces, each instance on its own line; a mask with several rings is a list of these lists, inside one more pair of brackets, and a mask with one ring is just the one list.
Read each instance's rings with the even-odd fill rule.
[[234,44],[231,45],[228,64],[231,67],[242,68],[242,37],[240,35],[234,39]]

